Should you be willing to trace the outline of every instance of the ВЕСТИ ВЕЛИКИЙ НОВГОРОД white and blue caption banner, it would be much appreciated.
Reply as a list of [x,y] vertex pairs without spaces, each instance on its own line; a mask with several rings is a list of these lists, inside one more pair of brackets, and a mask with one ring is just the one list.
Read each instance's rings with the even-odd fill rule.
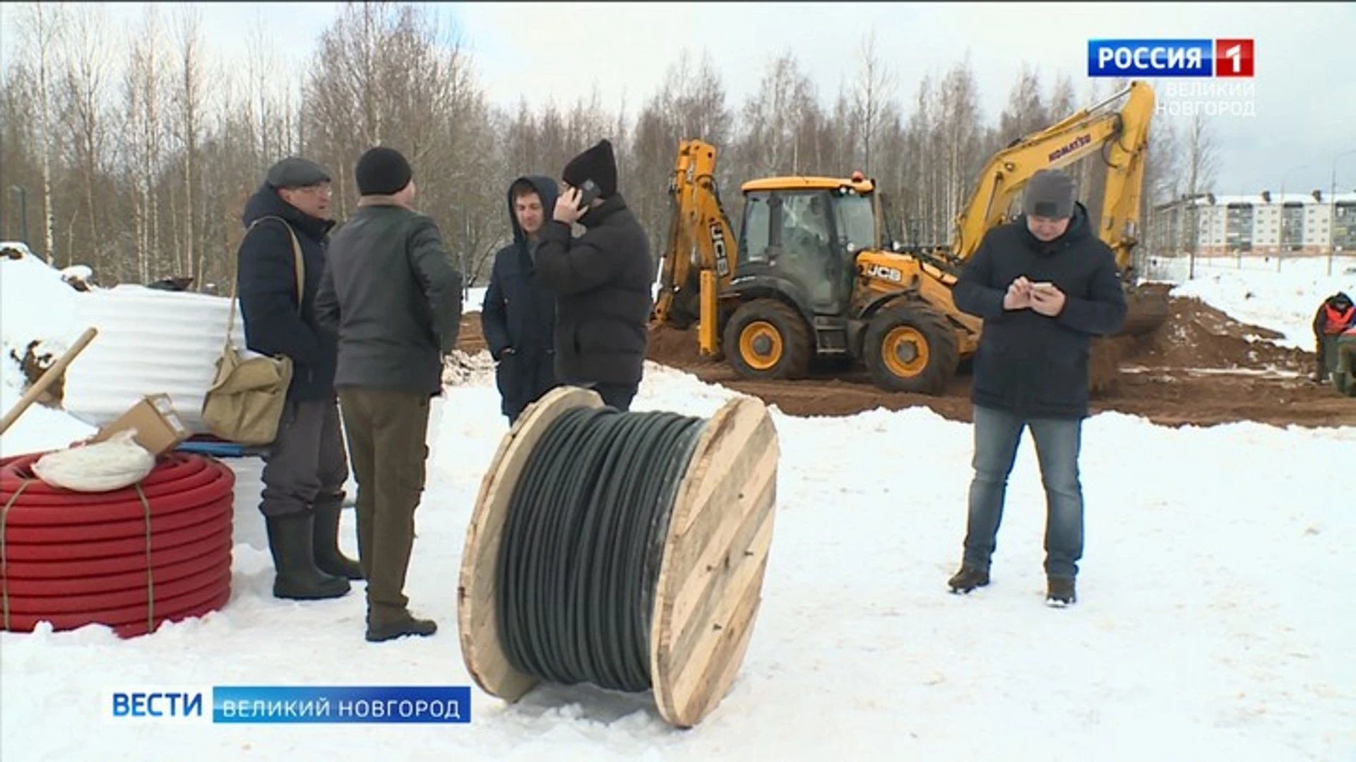
[[102,701],[115,724],[471,723],[471,686],[125,686]]

